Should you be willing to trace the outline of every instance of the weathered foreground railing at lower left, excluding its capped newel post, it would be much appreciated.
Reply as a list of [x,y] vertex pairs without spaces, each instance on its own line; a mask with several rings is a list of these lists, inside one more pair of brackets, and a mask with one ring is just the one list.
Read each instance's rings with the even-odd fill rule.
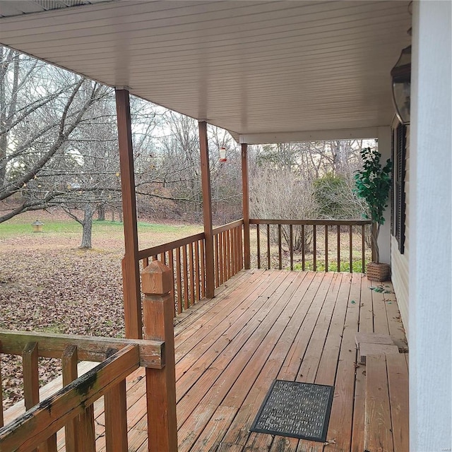
[[[95,451],[93,403],[104,396],[107,451],[127,451],[126,376],[138,367],[162,369],[164,343],[151,340],[0,331],[1,352],[23,357],[25,409],[0,429],[1,451]],[[40,402],[38,358],[61,359],[63,388]],[[77,362],[100,362],[78,377]],[[3,403],[1,407],[3,426]],[[62,446],[62,445],[60,445]]]

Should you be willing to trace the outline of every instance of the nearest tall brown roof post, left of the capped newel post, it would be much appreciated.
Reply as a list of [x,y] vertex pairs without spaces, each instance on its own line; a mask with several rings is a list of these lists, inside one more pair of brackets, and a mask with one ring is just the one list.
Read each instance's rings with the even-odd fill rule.
[[143,337],[141,321],[140,270],[138,266],[138,232],[136,229],[135,174],[129,91],[116,90],[118,118],[119,163],[121,167],[122,210],[124,213],[123,261],[124,321],[126,338]]

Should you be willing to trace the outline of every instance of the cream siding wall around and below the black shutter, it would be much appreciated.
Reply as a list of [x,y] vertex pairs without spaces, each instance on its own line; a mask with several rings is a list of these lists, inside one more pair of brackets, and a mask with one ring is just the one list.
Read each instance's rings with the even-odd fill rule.
[[408,263],[410,258],[410,126],[407,128],[407,150],[405,165],[405,246],[403,254],[398,251],[396,237],[391,235],[391,280],[396,292],[397,303],[402,316],[403,326],[407,337],[409,335],[410,321],[408,319],[409,309],[409,278]]

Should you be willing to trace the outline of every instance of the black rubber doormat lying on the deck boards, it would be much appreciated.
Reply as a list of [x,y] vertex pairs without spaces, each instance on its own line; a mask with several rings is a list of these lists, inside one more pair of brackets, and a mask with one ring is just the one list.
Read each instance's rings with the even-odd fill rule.
[[251,432],[326,441],[333,386],[275,380]]

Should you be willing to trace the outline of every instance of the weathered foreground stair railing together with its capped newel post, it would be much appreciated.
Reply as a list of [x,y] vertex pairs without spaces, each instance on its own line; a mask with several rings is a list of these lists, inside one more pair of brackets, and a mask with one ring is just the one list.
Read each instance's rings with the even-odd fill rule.
[[[4,424],[0,451],[96,450],[93,403],[105,406],[105,450],[128,451],[126,377],[145,368],[149,450],[177,451],[173,308],[170,272],[152,263],[142,273],[145,340],[0,331],[1,353],[23,358],[25,413]],[[63,388],[40,401],[39,357],[61,359]],[[78,361],[99,362],[77,375]],[[64,444],[57,432],[65,429]],[[103,446],[102,446],[103,447]]]

